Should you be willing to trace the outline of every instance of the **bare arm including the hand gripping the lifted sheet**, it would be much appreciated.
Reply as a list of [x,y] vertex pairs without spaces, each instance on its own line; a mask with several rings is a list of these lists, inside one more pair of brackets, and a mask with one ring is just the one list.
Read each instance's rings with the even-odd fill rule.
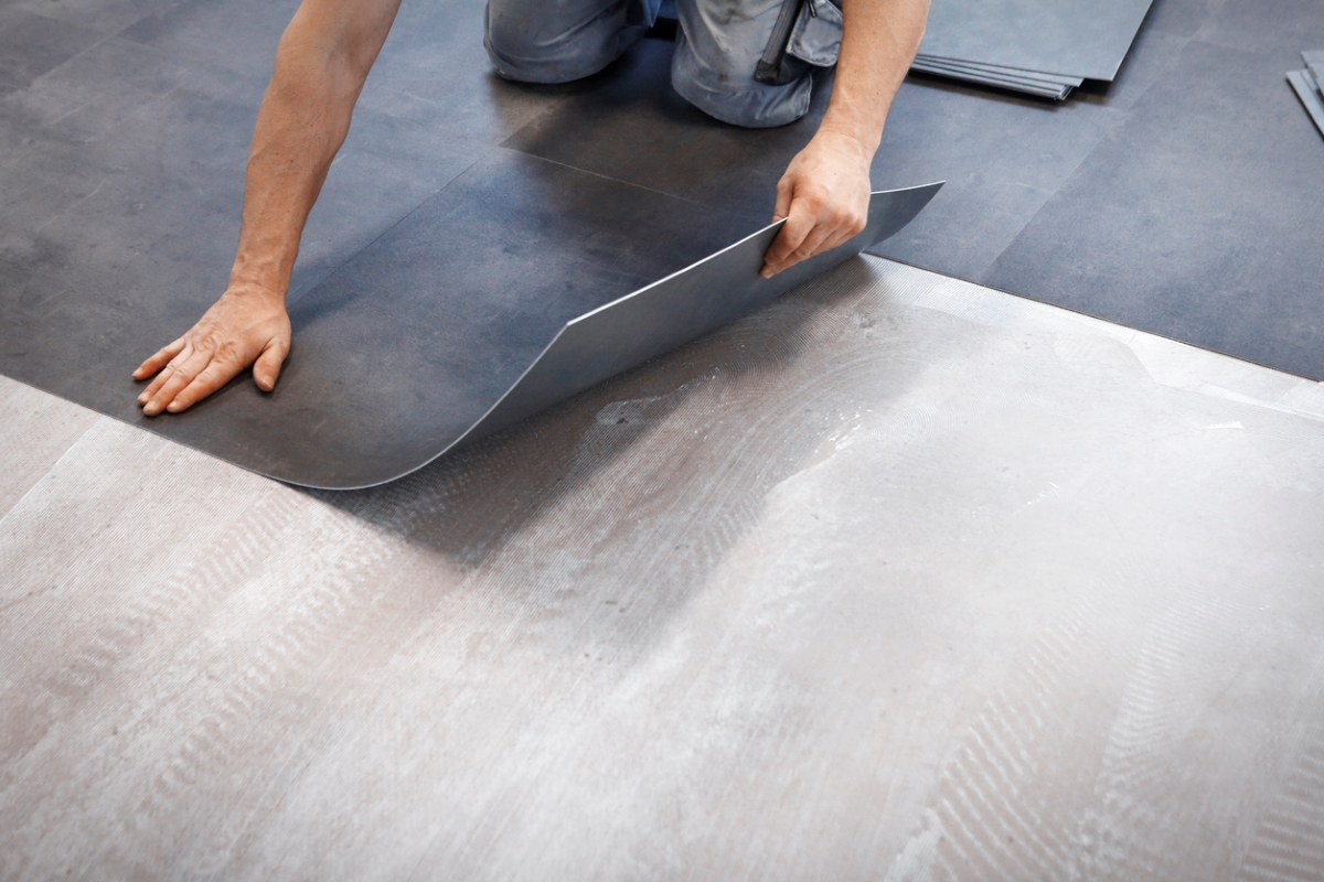
[[837,82],[818,132],[777,184],[785,226],[763,275],[834,249],[869,220],[869,165],[928,19],[928,0],[843,0]]

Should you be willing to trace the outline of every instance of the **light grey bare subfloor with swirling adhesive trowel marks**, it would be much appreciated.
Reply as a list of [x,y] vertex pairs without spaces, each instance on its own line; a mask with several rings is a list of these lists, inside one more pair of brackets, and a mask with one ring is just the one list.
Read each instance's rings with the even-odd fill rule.
[[4,879],[1324,869],[1317,383],[867,258],[377,491],[0,427]]

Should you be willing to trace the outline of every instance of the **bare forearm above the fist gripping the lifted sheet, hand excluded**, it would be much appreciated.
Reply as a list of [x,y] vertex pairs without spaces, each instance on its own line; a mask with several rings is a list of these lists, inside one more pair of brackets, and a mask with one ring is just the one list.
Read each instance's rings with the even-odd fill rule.
[[928,0],[843,0],[837,79],[820,132],[853,138],[874,155],[927,19]]

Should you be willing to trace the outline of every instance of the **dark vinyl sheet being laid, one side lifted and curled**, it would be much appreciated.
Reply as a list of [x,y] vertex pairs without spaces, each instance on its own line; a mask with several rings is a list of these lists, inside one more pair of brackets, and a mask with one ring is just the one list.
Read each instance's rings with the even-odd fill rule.
[[874,193],[863,233],[763,279],[779,225],[732,245],[748,221],[500,152],[291,304],[274,393],[241,378],[136,422],[291,484],[383,484],[759,308],[939,186]]

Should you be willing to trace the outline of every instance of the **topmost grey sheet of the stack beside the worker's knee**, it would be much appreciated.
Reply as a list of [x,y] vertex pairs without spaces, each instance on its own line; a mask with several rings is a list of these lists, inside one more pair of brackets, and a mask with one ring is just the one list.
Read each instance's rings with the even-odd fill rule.
[[1152,0],[933,0],[920,52],[1111,81]]

